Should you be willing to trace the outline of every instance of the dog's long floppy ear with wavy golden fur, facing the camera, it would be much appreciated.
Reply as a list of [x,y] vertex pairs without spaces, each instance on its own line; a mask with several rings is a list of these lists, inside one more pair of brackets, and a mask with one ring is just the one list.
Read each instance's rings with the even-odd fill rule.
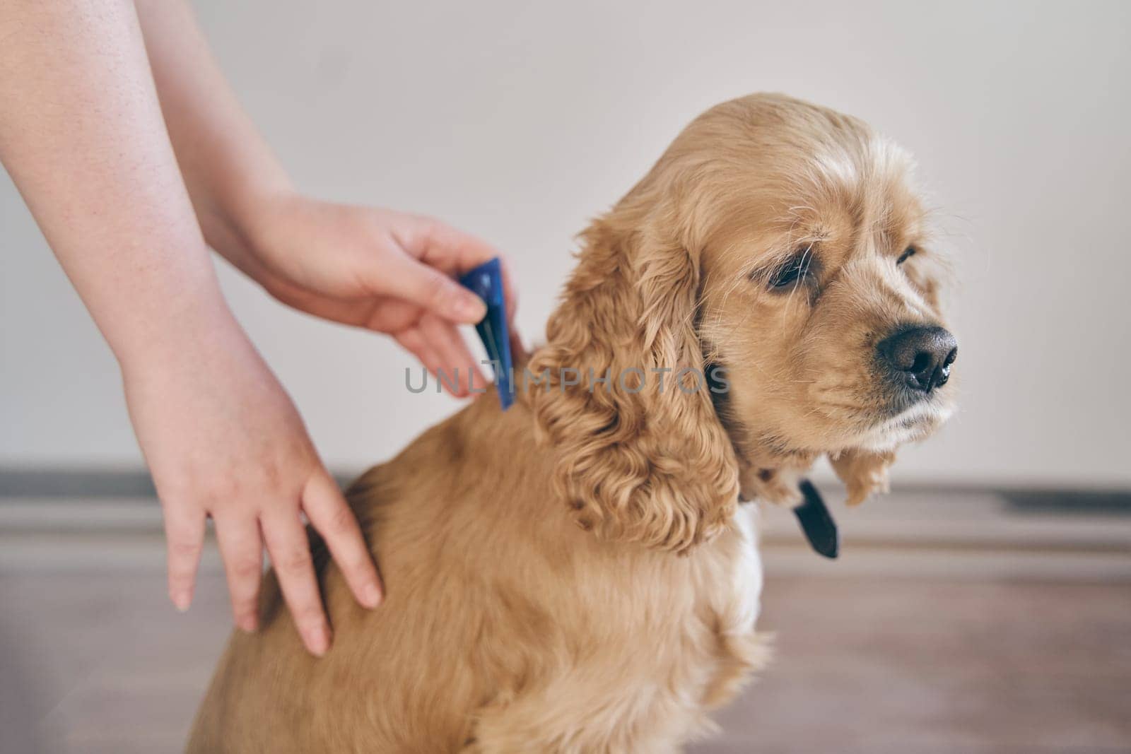
[[526,391],[578,525],[687,552],[726,526],[737,469],[703,379],[698,253],[649,187],[645,179],[581,235],[547,344],[529,364],[549,385]]

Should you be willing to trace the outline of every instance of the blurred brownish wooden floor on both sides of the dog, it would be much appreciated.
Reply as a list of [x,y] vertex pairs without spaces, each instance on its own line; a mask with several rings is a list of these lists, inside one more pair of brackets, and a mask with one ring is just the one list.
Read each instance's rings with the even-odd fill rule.
[[[0,751],[179,751],[227,632],[200,591],[0,578]],[[1126,584],[771,575],[763,604],[776,659],[692,752],[1131,751]]]

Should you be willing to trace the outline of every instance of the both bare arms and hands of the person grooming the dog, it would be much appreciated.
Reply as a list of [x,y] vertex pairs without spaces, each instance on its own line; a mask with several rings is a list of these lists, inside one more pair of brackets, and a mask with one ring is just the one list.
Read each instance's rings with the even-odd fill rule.
[[[426,217],[297,193],[179,0],[6,0],[0,102],[0,162],[121,366],[170,598],[189,608],[210,517],[235,624],[257,627],[266,547],[303,643],[325,653],[303,517],[360,604],[380,603],[380,580],[208,248],[295,309],[392,336],[433,373],[476,363],[457,324],[484,305],[452,278],[498,252]],[[509,284],[508,300],[512,313]]]

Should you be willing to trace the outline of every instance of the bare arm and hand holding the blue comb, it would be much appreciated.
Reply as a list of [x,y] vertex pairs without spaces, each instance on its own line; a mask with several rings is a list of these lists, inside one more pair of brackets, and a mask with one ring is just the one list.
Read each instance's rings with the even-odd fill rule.
[[[188,2],[138,0],[157,92],[205,239],[271,295],[391,335],[433,373],[473,370],[456,326],[483,304],[452,279],[499,252],[435,219],[295,191],[239,105]],[[508,286],[508,311],[515,295]],[[469,392],[460,381],[457,395]]]

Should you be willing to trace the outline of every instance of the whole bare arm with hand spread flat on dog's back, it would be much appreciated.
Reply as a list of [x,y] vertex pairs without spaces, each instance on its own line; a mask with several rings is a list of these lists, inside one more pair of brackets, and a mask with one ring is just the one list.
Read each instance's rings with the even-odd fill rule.
[[0,162],[116,356],[165,515],[170,596],[192,599],[216,521],[238,625],[262,543],[307,647],[329,643],[301,514],[355,596],[380,598],[356,521],[227,309],[127,0],[0,3]]

